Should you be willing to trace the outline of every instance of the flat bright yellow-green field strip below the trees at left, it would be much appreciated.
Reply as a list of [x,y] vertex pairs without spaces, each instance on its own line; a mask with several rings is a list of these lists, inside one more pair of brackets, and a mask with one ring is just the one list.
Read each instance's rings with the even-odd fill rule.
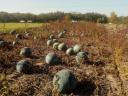
[[42,26],[43,23],[0,23],[0,31]]

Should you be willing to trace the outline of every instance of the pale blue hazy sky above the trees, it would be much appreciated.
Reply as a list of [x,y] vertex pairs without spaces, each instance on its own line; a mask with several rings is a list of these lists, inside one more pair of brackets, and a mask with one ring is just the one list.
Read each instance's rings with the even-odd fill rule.
[[128,0],[0,0],[0,11],[9,13],[98,12],[128,16]]

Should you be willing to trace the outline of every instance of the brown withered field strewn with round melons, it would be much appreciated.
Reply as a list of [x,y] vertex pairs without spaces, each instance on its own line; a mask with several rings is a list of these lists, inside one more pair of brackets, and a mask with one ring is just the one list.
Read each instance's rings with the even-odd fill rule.
[[41,25],[0,33],[0,96],[128,96],[128,27]]

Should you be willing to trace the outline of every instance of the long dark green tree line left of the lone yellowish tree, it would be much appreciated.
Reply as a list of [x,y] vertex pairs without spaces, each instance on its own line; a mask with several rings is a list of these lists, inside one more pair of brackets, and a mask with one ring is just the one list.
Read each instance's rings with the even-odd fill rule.
[[91,21],[99,23],[107,23],[108,17],[104,14],[99,13],[64,13],[64,12],[53,12],[53,13],[42,13],[35,15],[32,13],[8,13],[0,12],[0,22],[19,22],[21,20],[32,22],[51,22],[63,19],[69,19],[73,21]]

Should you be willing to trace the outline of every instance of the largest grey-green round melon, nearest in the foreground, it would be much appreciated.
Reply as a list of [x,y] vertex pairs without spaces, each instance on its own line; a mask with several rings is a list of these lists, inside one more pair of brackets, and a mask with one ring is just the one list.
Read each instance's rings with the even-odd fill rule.
[[76,88],[77,79],[68,69],[57,72],[53,78],[53,86],[60,93],[71,92]]

